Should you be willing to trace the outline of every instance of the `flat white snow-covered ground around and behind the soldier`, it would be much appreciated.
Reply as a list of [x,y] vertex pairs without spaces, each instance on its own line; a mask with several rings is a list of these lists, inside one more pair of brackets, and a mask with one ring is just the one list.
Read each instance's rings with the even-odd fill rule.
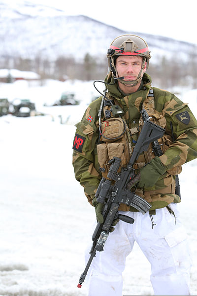
[[[67,89],[86,99],[79,106],[43,107]],[[86,296],[85,283],[81,289],[77,284],[95,212],[74,178],[71,156],[74,124],[94,88],[80,81],[34,87],[22,81],[0,84],[0,92],[9,98],[28,95],[38,111],[49,114],[0,117],[0,296]],[[196,108],[197,90],[183,98]],[[193,252],[192,295],[197,295],[197,160],[183,166],[180,183],[179,208]],[[150,266],[137,245],[123,277],[123,295],[153,295]]]

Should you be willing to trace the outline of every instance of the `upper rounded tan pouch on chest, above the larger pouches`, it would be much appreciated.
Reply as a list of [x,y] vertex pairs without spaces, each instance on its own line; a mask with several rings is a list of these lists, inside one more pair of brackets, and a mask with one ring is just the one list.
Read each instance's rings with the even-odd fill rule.
[[[123,137],[124,122],[122,118],[109,118],[101,123],[101,141],[111,143]],[[121,136],[122,135],[122,136]]]

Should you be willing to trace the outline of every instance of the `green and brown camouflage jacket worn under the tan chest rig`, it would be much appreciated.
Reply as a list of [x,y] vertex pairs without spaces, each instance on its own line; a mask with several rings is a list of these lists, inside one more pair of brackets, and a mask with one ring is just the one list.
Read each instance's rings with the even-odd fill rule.
[[[174,139],[162,156],[161,161],[170,169],[197,158],[197,120],[192,114],[187,104],[180,101],[174,94],[151,86],[151,77],[143,75],[143,87],[130,95],[124,96],[117,84],[107,85],[109,95],[119,105],[125,115],[129,129],[139,125],[140,111],[142,104],[149,94],[150,88],[154,91],[155,111],[163,114],[166,119],[165,134],[171,136],[171,125],[173,126]],[[105,81],[113,83],[114,79],[109,74]],[[75,178],[84,187],[84,192],[88,201],[92,204],[92,199],[97,191],[97,187],[102,178],[99,171],[97,156],[97,144],[99,138],[99,118],[98,111],[101,97],[92,102],[84,113],[82,120],[76,124],[77,130],[73,140],[73,167]],[[102,113],[101,120],[104,120]],[[166,173],[167,174],[167,173]],[[180,202],[180,198],[175,193],[175,185],[172,185],[174,176],[164,175],[153,187],[145,188],[145,192],[136,193],[145,198],[152,205],[152,209],[167,206],[171,202]],[[171,179],[170,179],[171,178]],[[175,183],[175,182],[174,182]],[[171,191],[165,190],[174,186]],[[170,193],[165,193],[170,192]],[[136,211],[125,206],[121,210]]]

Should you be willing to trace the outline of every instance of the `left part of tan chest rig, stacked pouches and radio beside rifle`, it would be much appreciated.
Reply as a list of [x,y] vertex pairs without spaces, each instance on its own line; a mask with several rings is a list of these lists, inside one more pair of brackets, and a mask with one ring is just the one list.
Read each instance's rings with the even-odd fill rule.
[[99,126],[100,142],[102,142],[97,146],[99,169],[106,179],[111,165],[110,160],[114,156],[121,158],[120,171],[122,166],[128,164],[132,153],[131,134],[123,117],[124,111],[114,101],[109,93],[105,94],[104,120]]

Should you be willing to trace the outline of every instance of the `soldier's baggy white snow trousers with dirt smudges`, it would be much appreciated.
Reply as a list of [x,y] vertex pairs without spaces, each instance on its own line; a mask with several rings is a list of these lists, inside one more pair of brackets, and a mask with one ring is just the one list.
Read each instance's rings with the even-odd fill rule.
[[[149,213],[120,212],[132,217],[134,223],[118,222],[107,238],[104,251],[97,251],[86,277],[89,296],[122,296],[122,272],[134,241],[151,264],[155,295],[190,295],[192,259],[187,234],[180,222],[177,205],[170,204],[170,208],[176,222],[174,216],[162,208],[152,216],[156,225],[152,224]],[[86,251],[86,261],[90,248]]]

